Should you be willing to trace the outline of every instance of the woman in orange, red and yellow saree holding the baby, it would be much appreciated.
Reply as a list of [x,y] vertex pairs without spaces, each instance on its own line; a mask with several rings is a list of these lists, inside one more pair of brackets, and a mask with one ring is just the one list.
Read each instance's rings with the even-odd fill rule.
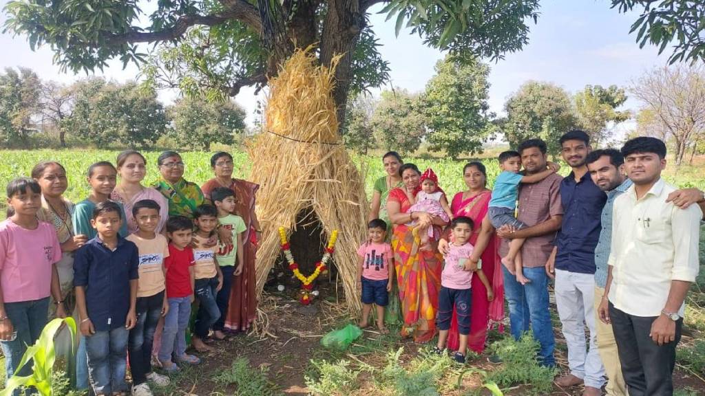
[[428,342],[436,335],[443,256],[434,240],[429,240],[430,250],[419,249],[421,242],[406,223],[413,220],[418,225],[442,227],[446,222],[425,212],[409,211],[419,192],[421,172],[413,163],[405,163],[399,173],[404,185],[389,192],[387,214],[393,224],[394,269],[404,319],[402,336],[412,335],[415,342]]

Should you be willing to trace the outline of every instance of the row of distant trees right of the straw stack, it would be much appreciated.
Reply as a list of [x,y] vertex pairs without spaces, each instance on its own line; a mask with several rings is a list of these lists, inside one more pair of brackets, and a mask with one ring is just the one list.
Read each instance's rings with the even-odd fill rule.
[[[637,120],[637,135],[656,135],[673,146],[680,164],[686,153],[705,151],[705,69],[675,65],[656,68],[628,87],[586,85],[570,92],[551,82],[525,82],[505,102],[501,117],[487,104],[489,66],[447,58],[436,64],[426,89],[360,94],[349,101],[344,126],[350,149],[396,149],[410,154],[427,144],[432,152],[457,158],[482,151],[498,137],[516,147],[529,137],[553,142],[572,128],[589,133],[593,145],[608,144],[615,127]],[[638,111],[623,109],[627,94],[639,99]]]

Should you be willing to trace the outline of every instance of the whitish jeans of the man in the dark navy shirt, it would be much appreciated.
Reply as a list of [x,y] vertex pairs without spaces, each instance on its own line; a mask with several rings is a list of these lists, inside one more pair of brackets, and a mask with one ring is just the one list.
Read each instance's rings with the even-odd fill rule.
[[[605,368],[597,348],[594,299],[593,274],[556,269],[556,307],[568,344],[570,373],[582,378],[585,386],[599,389],[605,383]],[[590,332],[589,349],[585,326]]]

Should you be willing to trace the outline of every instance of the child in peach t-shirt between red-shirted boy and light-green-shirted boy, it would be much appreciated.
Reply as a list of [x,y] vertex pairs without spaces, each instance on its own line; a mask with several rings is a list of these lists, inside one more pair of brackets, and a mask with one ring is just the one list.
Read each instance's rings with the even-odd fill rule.
[[207,247],[213,231],[218,226],[218,209],[213,205],[201,205],[193,212],[195,247],[193,258],[195,265],[195,295],[198,298],[198,314],[193,324],[191,344],[198,352],[210,352],[214,348],[204,340],[208,332],[221,316],[216,303],[216,295],[223,287],[223,273],[216,261],[217,246]]

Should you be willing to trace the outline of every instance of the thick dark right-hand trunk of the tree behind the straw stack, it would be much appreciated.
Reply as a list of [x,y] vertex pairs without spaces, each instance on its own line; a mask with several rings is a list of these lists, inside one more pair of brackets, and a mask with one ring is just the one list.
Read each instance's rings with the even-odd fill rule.
[[343,54],[336,68],[336,87],[333,100],[338,107],[338,123],[345,122],[345,106],[350,92],[350,68],[353,63],[353,50],[365,26],[364,12],[360,11],[358,0],[331,0],[321,33],[321,64],[330,66],[333,57]]

